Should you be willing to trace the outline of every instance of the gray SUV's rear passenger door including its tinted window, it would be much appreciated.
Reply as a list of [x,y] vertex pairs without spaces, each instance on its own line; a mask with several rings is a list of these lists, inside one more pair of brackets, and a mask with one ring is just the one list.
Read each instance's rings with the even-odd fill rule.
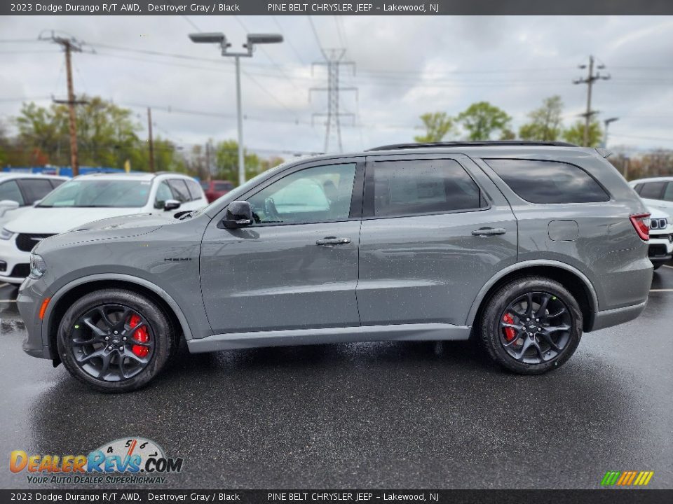
[[465,155],[367,158],[362,325],[465,324],[479,290],[517,261],[517,223]]

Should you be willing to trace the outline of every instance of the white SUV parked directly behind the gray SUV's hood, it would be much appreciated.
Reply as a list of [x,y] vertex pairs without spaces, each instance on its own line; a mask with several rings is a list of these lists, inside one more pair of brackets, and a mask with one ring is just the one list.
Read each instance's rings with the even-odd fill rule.
[[42,239],[91,221],[130,214],[165,214],[205,207],[199,183],[189,176],[90,174],[77,176],[44,197],[0,232],[0,281],[22,283],[32,248]]

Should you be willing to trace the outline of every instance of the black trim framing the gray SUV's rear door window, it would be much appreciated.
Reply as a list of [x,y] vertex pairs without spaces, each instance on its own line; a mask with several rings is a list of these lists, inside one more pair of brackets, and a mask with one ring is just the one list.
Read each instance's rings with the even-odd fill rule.
[[[377,159],[378,158],[378,159]],[[451,160],[458,163],[458,166],[463,169],[463,171],[468,174],[470,179],[475,183],[475,186],[480,190],[481,199],[484,200],[485,206],[472,209],[458,209],[458,210],[444,210],[444,211],[430,211],[430,212],[414,212],[410,214],[402,214],[397,216],[376,216],[374,215],[374,163],[377,162],[399,162],[399,161],[428,161],[428,160]],[[481,184],[477,182],[473,174],[470,173],[470,170],[465,168],[465,165],[458,160],[457,157],[453,155],[433,155],[432,157],[426,157],[423,155],[407,155],[407,156],[372,156],[369,158],[367,156],[367,162],[365,163],[365,193],[363,195],[363,204],[362,204],[362,221],[372,221],[374,219],[385,219],[385,218],[407,218],[407,217],[417,217],[417,216],[433,216],[433,215],[449,215],[449,214],[467,214],[469,212],[475,211],[488,211],[492,207],[492,200],[489,194],[482,188]]]

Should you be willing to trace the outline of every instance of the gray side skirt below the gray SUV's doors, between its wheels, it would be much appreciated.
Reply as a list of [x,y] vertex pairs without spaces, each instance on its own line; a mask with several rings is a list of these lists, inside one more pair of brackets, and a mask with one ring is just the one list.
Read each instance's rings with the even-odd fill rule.
[[325,343],[372,341],[464,340],[470,337],[467,325],[417,323],[395,325],[360,325],[344,328],[292,329],[257,332],[229,332],[187,342],[191,353],[218,350],[290,346]]

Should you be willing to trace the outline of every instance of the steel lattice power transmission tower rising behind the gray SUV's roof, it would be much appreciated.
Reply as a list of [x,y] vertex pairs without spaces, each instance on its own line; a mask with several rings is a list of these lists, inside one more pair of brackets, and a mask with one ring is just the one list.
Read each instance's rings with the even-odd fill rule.
[[343,151],[341,145],[341,120],[342,117],[350,117],[355,123],[355,114],[339,111],[339,94],[342,91],[355,91],[357,98],[357,87],[343,87],[339,85],[339,69],[341,66],[351,66],[355,74],[355,62],[344,61],[346,49],[325,49],[322,50],[325,57],[324,62],[314,62],[315,65],[325,65],[327,67],[327,87],[311,87],[308,92],[309,99],[313,91],[327,92],[327,113],[314,113],[313,118],[326,117],[325,120],[325,152],[329,152],[334,137],[337,139],[337,148],[339,152]]

